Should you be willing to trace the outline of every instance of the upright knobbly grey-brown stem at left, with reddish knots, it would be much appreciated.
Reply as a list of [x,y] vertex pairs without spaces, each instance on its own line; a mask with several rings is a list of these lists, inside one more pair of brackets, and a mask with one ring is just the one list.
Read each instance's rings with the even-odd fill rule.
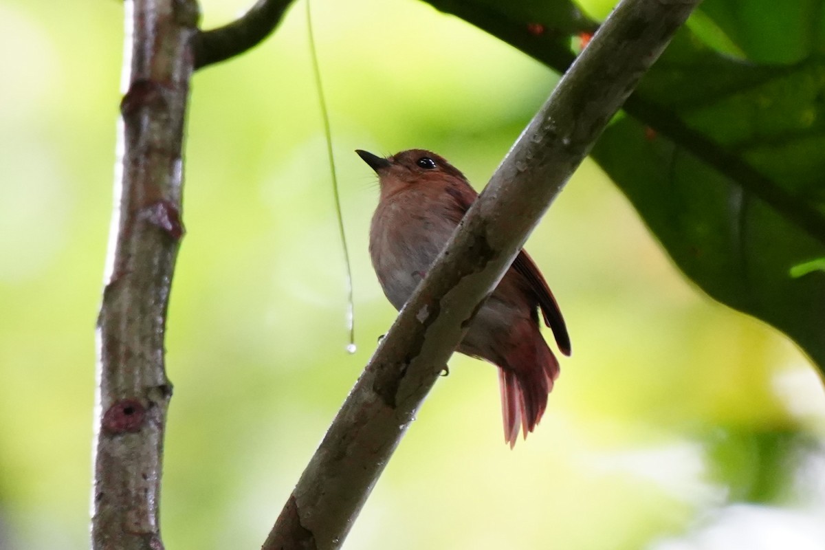
[[184,113],[196,0],[126,2],[129,87],[106,286],[97,322],[92,548],[163,548],[163,432],[172,386],[163,339],[181,223]]

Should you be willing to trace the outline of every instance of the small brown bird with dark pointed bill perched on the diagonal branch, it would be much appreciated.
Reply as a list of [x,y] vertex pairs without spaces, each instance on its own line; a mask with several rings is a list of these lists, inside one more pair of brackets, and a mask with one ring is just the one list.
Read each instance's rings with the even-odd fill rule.
[[[378,174],[381,190],[370,225],[372,266],[390,303],[401,309],[479,195],[436,153],[410,149],[386,158],[356,153]],[[498,367],[504,439],[511,447],[519,426],[526,438],[539,423],[559,376],[559,361],[539,330],[539,309],[559,350],[570,355],[559,305],[522,250],[457,348]]]

